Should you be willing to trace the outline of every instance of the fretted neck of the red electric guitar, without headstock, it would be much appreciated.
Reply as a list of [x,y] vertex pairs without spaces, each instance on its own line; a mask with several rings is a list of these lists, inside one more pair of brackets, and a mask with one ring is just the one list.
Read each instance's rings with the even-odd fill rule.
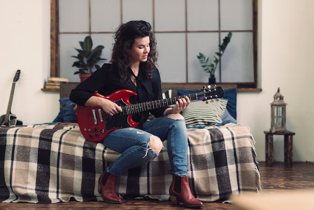
[[131,115],[134,113],[145,112],[145,111],[155,110],[155,109],[159,109],[163,107],[168,107],[168,106],[176,104],[176,101],[179,98],[184,98],[185,96],[188,96],[190,100],[197,99],[197,93],[193,93],[193,94],[181,95],[177,97],[135,103],[135,104],[130,104],[128,106],[122,107],[122,113],[124,113],[125,115]]

